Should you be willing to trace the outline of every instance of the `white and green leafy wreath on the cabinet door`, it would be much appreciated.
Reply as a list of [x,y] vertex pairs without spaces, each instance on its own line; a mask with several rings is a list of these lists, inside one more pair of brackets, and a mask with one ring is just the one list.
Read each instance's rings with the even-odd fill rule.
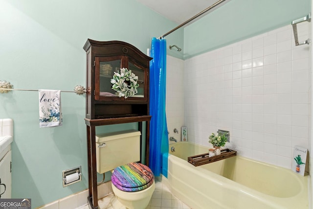
[[124,96],[125,98],[129,96],[134,96],[138,93],[137,88],[138,76],[136,76],[132,70],[127,70],[127,68],[121,68],[120,73],[114,72],[111,83],[113,84],[112,90],[118,93],[119,97]]

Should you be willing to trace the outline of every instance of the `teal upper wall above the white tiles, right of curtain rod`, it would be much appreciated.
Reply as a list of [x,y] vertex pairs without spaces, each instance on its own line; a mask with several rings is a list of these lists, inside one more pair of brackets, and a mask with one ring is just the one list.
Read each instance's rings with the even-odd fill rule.
[[184,59],[291,24],[311,0],[230,0],[184,28]]

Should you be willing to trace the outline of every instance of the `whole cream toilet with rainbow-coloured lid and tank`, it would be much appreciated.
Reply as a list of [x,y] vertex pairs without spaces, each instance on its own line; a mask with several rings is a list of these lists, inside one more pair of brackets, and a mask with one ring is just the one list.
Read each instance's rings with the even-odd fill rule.
[[96,135],[97,172],[112,171],[112,190],[128,209],[145,209],[156,184],[151,169],[140,161],[140,131]]

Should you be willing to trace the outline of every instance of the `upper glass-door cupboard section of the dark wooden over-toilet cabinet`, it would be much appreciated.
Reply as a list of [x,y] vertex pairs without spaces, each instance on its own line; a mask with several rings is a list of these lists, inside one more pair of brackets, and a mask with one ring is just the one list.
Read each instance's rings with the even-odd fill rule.
[[[149,115],[149,63],[152,59],[136,47],[121,41],[88,39],[86,118],[116,118]],[[114,72],[127,68],[138,76],[138,93],[124,98],[112,90]]]

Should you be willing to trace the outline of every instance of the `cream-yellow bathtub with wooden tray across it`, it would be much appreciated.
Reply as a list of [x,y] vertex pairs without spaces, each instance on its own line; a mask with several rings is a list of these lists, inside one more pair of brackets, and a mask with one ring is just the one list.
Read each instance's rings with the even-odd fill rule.
[[187,157],[208,147],[190,142],[170,144],[169,152],[168,186],[192,209],[309,208],[309,176],[241,156],[195,167]]

